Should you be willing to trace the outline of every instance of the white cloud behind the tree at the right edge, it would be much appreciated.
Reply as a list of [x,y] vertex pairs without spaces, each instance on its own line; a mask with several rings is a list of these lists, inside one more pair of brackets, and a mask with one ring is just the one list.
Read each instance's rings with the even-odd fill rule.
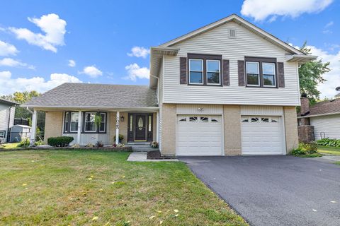
[[329,54],[327,51],[318,49],[317,47],[308,46],[312,50],[312,55],[319,56],[318,59],[322,59],[322,62],[330,62],[328,73],[324,73],[323,77],[327,81],[318,86],[318,90],[321,92],[320,98],[334,97],[337,92],[335,88],[340,86],[340,51],[336,54]]

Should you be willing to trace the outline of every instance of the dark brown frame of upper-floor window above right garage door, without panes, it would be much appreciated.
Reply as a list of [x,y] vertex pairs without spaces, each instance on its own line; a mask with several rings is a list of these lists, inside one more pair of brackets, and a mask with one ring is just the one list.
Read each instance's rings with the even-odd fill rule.
[[[268,57],[244,57],[244,76],[246,79],[246,62],[252,61],[252,62],[259,62],[259,73],[260,73],[260,85],[248,85],[246,82],[246,87],[249,88],[278,88],[278,62],[276,58],[268,58]],[[275,66],[274,72],[275,72],[275,85],[263,85],[263,69],[262,69],[262,63],[273,63]]]

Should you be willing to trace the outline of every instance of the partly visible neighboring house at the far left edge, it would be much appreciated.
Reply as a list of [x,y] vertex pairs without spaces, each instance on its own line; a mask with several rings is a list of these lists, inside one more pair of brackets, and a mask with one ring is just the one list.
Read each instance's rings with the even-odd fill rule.
[[14,113],[18,103],[0,98],[0,143],[6,143],[8,129],[13,126]]

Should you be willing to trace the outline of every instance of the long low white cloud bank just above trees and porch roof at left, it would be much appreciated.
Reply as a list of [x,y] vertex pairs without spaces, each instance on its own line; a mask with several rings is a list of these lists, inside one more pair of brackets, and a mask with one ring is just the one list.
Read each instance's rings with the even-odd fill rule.
[[10,71],[0,71],[0,83],[2,85],[0,95],[8,95],[16,91],[37,90],[44,93],[62,83],[81,83],[79,78],[69,76],[66,73],[52,73],[50,80],[45,81],[42,77],[11,78]]

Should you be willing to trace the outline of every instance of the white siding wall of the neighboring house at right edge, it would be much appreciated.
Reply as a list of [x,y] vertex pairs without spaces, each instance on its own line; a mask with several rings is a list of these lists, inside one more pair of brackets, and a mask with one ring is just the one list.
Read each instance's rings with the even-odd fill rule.
[[310,125],[314,126],[315,140],[326,138],[340,139],[340,114],[310,117]]

